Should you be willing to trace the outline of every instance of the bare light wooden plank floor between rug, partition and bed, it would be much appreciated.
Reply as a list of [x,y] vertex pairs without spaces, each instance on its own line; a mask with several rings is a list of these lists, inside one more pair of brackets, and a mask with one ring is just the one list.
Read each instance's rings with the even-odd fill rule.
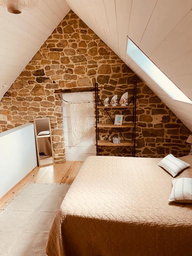
[[82,164],[83,161],[67,161],[64,164],[36,167],[0,199],[0,208],[29,182],[72,183]]

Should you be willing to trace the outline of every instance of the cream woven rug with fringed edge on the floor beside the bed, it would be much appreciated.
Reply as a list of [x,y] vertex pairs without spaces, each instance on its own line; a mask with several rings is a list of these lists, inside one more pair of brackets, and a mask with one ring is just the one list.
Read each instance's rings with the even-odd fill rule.
[[45,256],[68,184],[29,183],[0,210],[0,256]]

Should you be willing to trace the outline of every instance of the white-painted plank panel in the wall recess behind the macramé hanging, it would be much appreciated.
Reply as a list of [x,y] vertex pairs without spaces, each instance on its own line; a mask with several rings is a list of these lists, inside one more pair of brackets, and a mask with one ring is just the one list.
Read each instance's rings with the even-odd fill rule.
[[89,109],[89,125],[90,136],[86,140],[73,146],[72,132],[71,132],[71,115],[70,105],[63,101],[63,130],[65,142],[65,157],[67,161],[85,161],[88,156],[96,155],[95,146],[95,116],[94,116],[94,101],[93,92],[76,92],[63,93],[64,100],[67,101],[90,101],[88,103]]

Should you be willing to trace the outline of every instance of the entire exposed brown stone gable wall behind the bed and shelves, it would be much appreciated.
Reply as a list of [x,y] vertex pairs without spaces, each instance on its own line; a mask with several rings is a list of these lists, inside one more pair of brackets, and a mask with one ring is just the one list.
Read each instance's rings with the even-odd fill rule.
[[[25,67],[0,102],[0,131],[6,131],[33,117],[50,117],[56,163],[65,162],[62,101],[56,89],[110,84],[102,99],[120,93],[116,86],[138,83],[137,156],[185,155],[190,131],[161,100],[127,67],[101,39],[70,11]],[[116,89],[115,89],[116,88]],[[131,93],[131,92],[130,92]],[[127,112],[129,115],[130,113]],[[103,120],[109,122],[103,114]],[[125,122],[128,119],[125,119]],[[103,134],[106,131],[103,130]],[[123,132],[129,138],[127,131]],[[117,135],[117,134],[116,134]],[[126,149],[109,149],[103,155],[126,155]]]

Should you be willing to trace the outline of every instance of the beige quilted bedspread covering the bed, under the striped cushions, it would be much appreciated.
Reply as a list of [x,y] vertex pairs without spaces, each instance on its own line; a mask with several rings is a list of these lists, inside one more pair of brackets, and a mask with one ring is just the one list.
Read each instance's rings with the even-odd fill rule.
[[[192,156],[181,158],[192,164]],[[192,204],[168,203],[160,158],[91,156],[49,234],[49,256],[192,256]],[[179,177],[192,177],[192,168]]]

